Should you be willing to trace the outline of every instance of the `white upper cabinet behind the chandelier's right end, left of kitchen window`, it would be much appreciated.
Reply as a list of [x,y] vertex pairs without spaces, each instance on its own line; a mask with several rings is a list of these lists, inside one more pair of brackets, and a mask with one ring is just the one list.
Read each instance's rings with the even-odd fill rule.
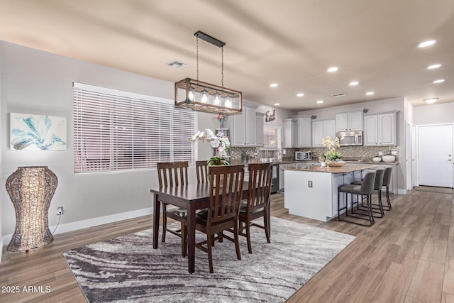
[[232,119],[226,120],[226,126],[231,129],[231,145],[259,146],[263,145],[263,116],[259,121],[258,114],[253,106],[245,106],[239,114],[233,114]]

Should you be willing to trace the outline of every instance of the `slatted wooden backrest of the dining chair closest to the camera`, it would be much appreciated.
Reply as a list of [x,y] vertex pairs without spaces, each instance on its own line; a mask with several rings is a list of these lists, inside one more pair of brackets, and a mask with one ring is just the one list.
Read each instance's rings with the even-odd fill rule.
[[207,223],[226,221],[238,216],[243,193],[244,165],[216,165],[208,168],[210,209]]

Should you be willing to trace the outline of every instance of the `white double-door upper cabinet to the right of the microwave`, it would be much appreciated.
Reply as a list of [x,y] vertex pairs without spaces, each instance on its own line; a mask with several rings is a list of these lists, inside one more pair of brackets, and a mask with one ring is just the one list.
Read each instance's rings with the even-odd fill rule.
[[364,116],[364,145],[365,146],[394,146],[396,135],[397,112]]

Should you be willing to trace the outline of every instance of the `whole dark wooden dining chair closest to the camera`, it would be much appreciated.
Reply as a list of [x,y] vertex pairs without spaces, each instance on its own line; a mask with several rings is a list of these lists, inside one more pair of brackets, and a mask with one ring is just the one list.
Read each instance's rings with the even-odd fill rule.
[[[226,238],[235,243],[236,258],[241,260],[238,240],[238,212],[243,194],[244,165],[216,165],[209,167],[210,206],[196,214],[196,231],[206,233],[206,240],[196,248],[208,253],[209,269],[213,273],[212,248],[214,241]],[[223,231],[233,229],[233,238]],[[216,246],[217,247],[217,246]]]

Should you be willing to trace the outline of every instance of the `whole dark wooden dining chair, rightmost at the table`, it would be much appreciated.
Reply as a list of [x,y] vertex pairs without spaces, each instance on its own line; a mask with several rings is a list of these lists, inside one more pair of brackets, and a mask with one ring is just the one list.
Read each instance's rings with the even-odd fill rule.
[[[270,243],[270,221],[268,221],[268,204],[272,187],[272,163],[250,163],[248,165],[248,199],[240,206],[239,231],[248,241],[248,251],[253,253],[250,243],[250,227],[265,229],[267,242]],[[253,220],[263,217],[263,225]]]

